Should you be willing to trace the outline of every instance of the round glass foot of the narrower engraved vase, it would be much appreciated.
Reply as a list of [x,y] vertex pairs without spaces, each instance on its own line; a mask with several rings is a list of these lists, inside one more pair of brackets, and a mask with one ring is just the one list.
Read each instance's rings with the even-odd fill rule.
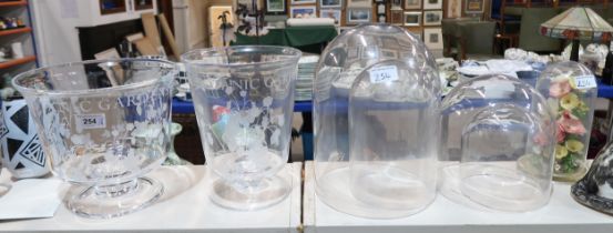
[[264,179],[257,185],[239,185],[217,180],[211,200],[217,205],[238,211],[260,210],[275,205],[289,194],[290,185],[279,176]]

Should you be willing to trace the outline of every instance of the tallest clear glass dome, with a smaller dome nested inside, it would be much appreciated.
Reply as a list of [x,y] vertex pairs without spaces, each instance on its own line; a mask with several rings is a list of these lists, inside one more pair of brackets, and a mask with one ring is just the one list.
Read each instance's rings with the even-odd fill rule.
[[[371,75],[381,75],[374,80],[381,79],[387,84],[371,83]],[[381,182],[399,182],[386,188],[391,189],[394,185],[403,185],[402,182],[409,179],[394,181],[394,176],[379,174],[359,186],[351,185],[351,181],[360,181],[357,171],[360,166],[358,164],[362,162],[368,168],[375,163],[379,163],[379,168],[392,168],[395,161],[405,161],[409,156],[421,158],[421,153],[430,152],[427,148],[420,148],[420,152],[411,150],[418,150],[416,145],[426,143],[423,140],[437,139],[413,140],[420,125],[437,125],[428,122],[436,118],[423,115],[426,112],[430,114],[430,108],[437,105],[433,105],[436,102],[425,105],[415,102],[423,102],[422,99],[417,100],[418,97],[439,99],[440,93],[440,80],[432,55],[422,42],[405,29],[388,24],[364,24],[337,37],[321,53],[314,83],[314,163],[318,197],[336,210],[360,216],[396,217],[415,212],[418,209],[416,206],[396,206],[400,202],[395,203],[391,196],[379,196],[385,200],[366,199],[359,195],[376,193],[360,193],[356,190],[382,188],[385,183]],[[411,104],[422,110],[407,110],[406,105]],[[375,126],[378,129],[371,129]],[[372,135],[386,138],[377,139]],[[377,141],[360,144],[365,140]],[[397,175],[408,172],[402,171],[400,164],[389,172],[395,171],[399,172]],[[421,179],[420,175],[416,174],[416,179]],[[435,176],[436,173],[428,179]],[[364,202],[368,200],[372,202]],[[385,201],[391,202],[382,204]]]

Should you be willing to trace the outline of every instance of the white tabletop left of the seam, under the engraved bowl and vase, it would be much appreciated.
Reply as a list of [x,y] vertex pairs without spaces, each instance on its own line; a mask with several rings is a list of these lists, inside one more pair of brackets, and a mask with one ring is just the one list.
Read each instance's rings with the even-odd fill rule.
[[[272,207],[247,212],[219,207],[208,199],[216,179],[204,165],[162,166],[149,176],[164,183],[160,201],[139,212],[111,220],[74,215],[61,205],[51,219],[0,221],[0,231],[10,232],[298,232],[300,225],[302,163],[288,163],[279,172],[293,185],[292,193]],[[0,183],[10,183],[2,171]],[[68,184],[62,186],[63,190]],[[9,191],[10,192],[10,191]],[[35,197],[23,196],[24,199]],[[2,206],[0,206],[2,207]]]

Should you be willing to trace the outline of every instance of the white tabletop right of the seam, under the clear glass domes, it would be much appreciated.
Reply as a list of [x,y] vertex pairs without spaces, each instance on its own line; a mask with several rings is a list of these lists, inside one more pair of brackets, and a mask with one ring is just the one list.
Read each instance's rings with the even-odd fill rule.
[[555,183],[550,203],[534,212],[502,213],[469,209],[441,194],[420,213],[397,220],[369,220],[338,212],[315,195],[313,162],[305,166],[304,227],[317,233],[611,233],[613,216],[576,203],[569,183]]

